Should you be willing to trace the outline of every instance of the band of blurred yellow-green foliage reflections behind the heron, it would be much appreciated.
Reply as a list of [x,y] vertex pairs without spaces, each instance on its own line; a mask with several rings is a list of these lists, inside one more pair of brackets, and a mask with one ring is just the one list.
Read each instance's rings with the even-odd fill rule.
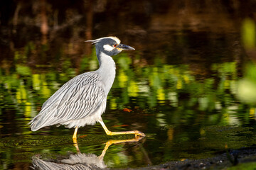
[[[97,59],[92,61],[97,61]],[[94,62],[87,63],[87,65],[85,62],[81,64],[83,65],[82,69],[97,67],[94,66]],[[194,110],[191,110],[191,113],[186,113],[194,107],[198,107],[198,111],[207,111],[209,121],[213,124],[215,124],[213,115],[218,112],[225,115],[223,121],[219,122],[220,125],[236,125],[238,123],[227,119],[228,117],[235,118],[233,114],[241,107],[241,103],[238,103],[235,96],[240,96],[242,99],[242,96],[246,95],[246,91],[242,91],[241,87],[245,86],[246,82],[245,80],[239,80],[235,62],[212,64],[211,70],[214,76],[203,80],[196,80],[196,73],[192,72],[186,64],[169,65],[158,62],[157,66],[149,65],[134,68],[131,67],[131,64],[131,59],[125,53],[117,58],[117,79],[108,97],[110,109],[129,107],[132,98],[140,98],[136,104],[132,104],[133,107],[169,106],[170,108],[176,108],[171,115],[164,113],[161,120],[156,119],[161,122],[159,125],[169,125],[171,123],[169,122],[169,116],[180,113],[183,113],[182,117],[185,118],[185,121],[188,121],[191,114],[197,114]],[[246,79],[250,79],[252,83],[255,82],[256,77],[254,68],[255,66],[251,64],[247,67],[247,74],[245,74]],[[32,73],[30,67],[24,64],[16,64],[16,72],[7,75],[4,74],[2,69],[0,83],[4,94],[1,94],[1,96],[5,97],[4,100],[11,99],[8,103],[17,103],[22,106],[27,104],[29,106],[41,106],[43,101],[46,101],[65,81],[75,76],[69,60],[63,62],[63,70],[62,73],[51,70]],[[217,79],[218,81],[216,81]],[[6,90],[4,91],[4,89]],[[244,89],[246,90],[247,87]],[[121,96],[116,95],[114,91],[120,91]],[[227,91],[229,92],[227,93]],[[9,95],[6,95],[6,92]],[[249,95],[252,92],[253,90],[250,90]],[[12,97],[9,98],[9,96]],[[181,96],[186,96],[186,98],[183,99]],[[250,96],[252,96],[252,100],[255,100],[253,96],[256,95]],[[35,109],[33,107],[24,109],[26,109],[26,115],[28,116],[31,115],[29,109],[32,113],[38,112],[33,110]],[[233,109],[235,109],[235,112]],[[214,112],[214,114],[211,115],[211,112]],[[178,115],[178,117],[180,116]]]

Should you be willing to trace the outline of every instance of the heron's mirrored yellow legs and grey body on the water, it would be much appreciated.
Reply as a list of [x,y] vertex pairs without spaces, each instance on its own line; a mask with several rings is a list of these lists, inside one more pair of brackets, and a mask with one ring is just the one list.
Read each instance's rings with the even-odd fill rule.
[[62,159],[58,162],[43,161],[37,156],[32,157],[33,169],[105,169],[103,158],[105,153],[112,144],[119,144],[124,142],[138,142],[142,137],[135,137],[133,140],[110,140],[106,142],[105,148],[97,157],[95,154],[82,154],[78,148],[78,144],[75,144],[78,154],[71,154],[68,159]]

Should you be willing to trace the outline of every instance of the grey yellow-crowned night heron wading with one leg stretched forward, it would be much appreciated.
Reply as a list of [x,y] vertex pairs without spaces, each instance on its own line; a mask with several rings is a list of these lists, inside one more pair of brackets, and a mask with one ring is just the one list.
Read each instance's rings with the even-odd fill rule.
[[122,50],[135,50],[133,47],[120,43],[116,37],[87,40],[96,47],[100,68],[94,72],[85,72],[70,79],[58,91],[43,103],[40,113],[29,124],[36,131],[49,125],[65,125],[75,128],[73,140],[76,142],[78,128],[85,125],[95,125],[99,122],[107,135],[134,134],[145,136],[138,130],[126,132],[111,132],[102,121],[105,112],[107,94],[115,77],[113,55]]

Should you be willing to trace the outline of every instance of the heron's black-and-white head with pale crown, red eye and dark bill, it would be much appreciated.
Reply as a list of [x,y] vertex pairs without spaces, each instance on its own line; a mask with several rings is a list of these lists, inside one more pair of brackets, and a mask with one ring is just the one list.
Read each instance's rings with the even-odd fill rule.
[[92,42],[96,47],[97,52],[104,52],[106,55],[117,55],[122,50],[135,50],[129,45],[121,44],[119,38],[117,37],[105,37],[96,40],[87,40],[85,42]]

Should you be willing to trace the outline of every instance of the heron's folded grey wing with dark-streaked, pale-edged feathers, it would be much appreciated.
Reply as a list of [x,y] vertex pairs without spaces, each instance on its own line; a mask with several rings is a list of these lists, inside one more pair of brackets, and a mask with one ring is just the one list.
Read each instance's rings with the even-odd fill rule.
[[105,97],[96,72],[80,74],[43,103],[41,112],[30,122],[31,129],[36,131],[48,125],[86,118],[100,107]]

